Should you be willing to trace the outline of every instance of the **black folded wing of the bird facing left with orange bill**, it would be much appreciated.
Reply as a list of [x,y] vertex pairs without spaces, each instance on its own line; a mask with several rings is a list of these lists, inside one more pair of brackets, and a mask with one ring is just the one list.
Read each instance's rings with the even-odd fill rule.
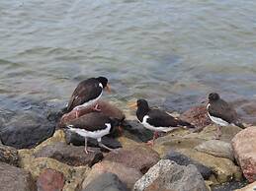
[[182,126],[182,120],[176,119],[165,111],[152,109],[148,113],[147,123],[154,127],[178,127]]

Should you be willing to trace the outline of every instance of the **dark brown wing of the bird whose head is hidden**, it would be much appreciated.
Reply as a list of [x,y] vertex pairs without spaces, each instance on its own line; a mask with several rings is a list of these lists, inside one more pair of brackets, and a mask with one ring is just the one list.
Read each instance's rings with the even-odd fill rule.
[[74,128],[97,131],[105,129],[105,123],[111,123],[108,116],[99,112],[91,112],[68,122],[66,126],[72,125]]

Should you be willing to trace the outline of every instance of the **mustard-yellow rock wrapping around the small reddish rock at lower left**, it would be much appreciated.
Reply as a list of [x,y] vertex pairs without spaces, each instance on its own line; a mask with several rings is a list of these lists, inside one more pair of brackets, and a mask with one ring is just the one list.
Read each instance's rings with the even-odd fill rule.
[[56,159],[36,158],[31,150],[19,150],[20,166],[30,171],[34,179],[38,179],[44,169],[50,168],[63,173],[66,180],[63,190],[74,191],[78,189],[90,171],[88,166],[70,166]]

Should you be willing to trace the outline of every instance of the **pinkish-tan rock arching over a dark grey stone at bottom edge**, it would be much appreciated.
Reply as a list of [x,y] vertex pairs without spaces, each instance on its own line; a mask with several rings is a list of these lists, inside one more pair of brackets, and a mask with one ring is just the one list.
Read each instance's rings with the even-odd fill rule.
[[136,180],[142,176],[140,171],[134,168],[127,167],[122,163],[104,160],[93,165],[91,172],[83,181],[82,189],[85,189],[91,181],[105,172],[117,174],[121,181],[128,186],[128,189],[131,189]]

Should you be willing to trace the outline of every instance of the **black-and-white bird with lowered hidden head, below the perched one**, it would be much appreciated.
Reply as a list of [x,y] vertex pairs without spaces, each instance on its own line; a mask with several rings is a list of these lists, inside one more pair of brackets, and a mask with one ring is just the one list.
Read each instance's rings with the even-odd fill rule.
[[101,140],[103,136],[112,133],[115,128],[121,128],[120,124],[121,122],[118,119],[110,118],[101,112],[91,112],[70,121],[66,127],[69,131],[84,137],[84,151],[88,154],[88,152],[92,152],[87,149],[88,138],[96,139],[101,148],[113,151],[113,149],[103,145]]

